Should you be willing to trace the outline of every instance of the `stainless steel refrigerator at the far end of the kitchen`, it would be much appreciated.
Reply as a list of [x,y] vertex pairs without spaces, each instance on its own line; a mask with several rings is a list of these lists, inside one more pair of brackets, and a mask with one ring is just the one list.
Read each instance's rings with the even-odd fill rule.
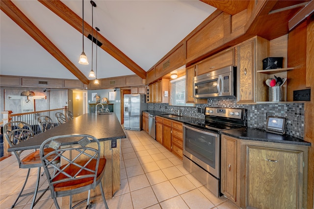
[[124,129],[140,131],[142,111],[147,110],[145,94],[124,94]]

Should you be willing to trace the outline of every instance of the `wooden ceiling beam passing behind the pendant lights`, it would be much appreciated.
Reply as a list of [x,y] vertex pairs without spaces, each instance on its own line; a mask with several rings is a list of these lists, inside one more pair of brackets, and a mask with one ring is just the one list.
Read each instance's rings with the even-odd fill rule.
[[[54,14],[59,16],[62,20],[69,23],[72,27],[74,27],[80,33],[82,33],[82,19],[60,0],[38,0],[38,1],[45,5],[48,9],[50,9]],[[96,34],[96,30],[92,28],[88,23],[84,22],[84,36],[87,37],[89,34],[92,34],[92,30],[94,30],[93,33]],[[101,48],[104,49],[108,54],[110,54],[120,63],[122,63],[127,68],[132,70],[139,77],[143,79],[146,78],[146,71],[139,67],[116,46],[111,44],[104,36],[98,34],[98,40],[101,43],[103,43]]]

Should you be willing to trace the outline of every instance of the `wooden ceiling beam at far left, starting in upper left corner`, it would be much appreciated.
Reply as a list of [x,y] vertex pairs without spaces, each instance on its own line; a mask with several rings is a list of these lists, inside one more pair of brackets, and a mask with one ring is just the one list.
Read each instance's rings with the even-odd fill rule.
[[82,83],[88,85],[89,80],[54,44],[32,23],[26,15],[11,1],[1,0],[1,10],[17,23],[40,46],[44,47],[66,69],[70,70]]

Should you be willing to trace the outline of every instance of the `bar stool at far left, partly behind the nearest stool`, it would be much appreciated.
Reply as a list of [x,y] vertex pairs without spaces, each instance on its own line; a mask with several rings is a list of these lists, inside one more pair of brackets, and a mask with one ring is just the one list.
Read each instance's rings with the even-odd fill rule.
[[[22,122],[22,121],[14,121],[14,122],[9,122],[6,123],[3,126],[3,133],[4,136],[6,138],[6,140],[8,141],[8,144],[10,147],[28,140],[30,138],[32,138],[34,136],[34,132],[31,129],[31,126],[26,123],[26,122]],[[50,150],[52,150],[51,148],[47,148],[45,149],[45,152],[48,153],[50,152]],[[31,203],[30,208],[33,208],[36,203],[39,201],[39,199],[45,194],[45,192],[49,189],[49,187],[47,187],[46,189],[42,189],[40,191],[38,191],[38,186],[39,186],[39,180],[40,180],[40,168],[43,166],[42,162],[40,161],[40,156],[39,156],[39,150],[34,151],[28,155],[26,155],[24,158],[21,158],[21,154],[24,150],[21,151],[13,151],[13,153],[15,154],[18,163],[19,163],[19,167],[20,168],[28,168],[28,172],[26,175],[26,179],[24,182],[24,185],[22,186],[22,189],[17,197],[17,199],[15,200],[15,202],[13,203],[11,208],[14,208],[15,204],[17,203],[17,201],[19,200],[20,197],[24,197],[26,195],[31,195],[34,194],[33,196],[33,200]],[[52,156],[55,160],[53,161],[53,163],[58,163],[59,162],[59,158],[57,156]],[[35,191],[34,192],[29,192],[26,194],[22,194],[23,190],[26,186],[27,180],[28,180],[28,176],[29,176],[29,172],[30,172],[30,168],[38,168],[38,173],[37,173],[37,182],[36,182],[36,186],[35,186]],[[37,196],[37,192],[43,192],[41,194],[41,196],[36,200],[36,196]],[[35,201],[36,200],[36,201]]]

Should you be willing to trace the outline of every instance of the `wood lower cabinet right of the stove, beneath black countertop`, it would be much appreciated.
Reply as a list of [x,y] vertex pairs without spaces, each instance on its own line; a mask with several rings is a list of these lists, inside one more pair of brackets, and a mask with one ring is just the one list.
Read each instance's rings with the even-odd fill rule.
[[240,208],[307,208],[308,146],[221,137],[221,192]]

